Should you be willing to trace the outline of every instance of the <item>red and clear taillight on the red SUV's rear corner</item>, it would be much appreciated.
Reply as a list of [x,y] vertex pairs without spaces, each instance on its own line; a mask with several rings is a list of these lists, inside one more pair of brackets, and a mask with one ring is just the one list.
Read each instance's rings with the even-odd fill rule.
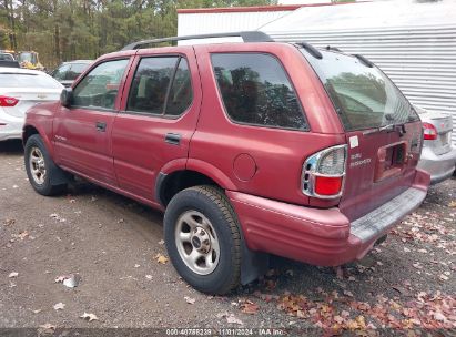
[[346,157],[347,145],[332,146],[311,155],[303,166],[303,193],[321,198],[341,196]]

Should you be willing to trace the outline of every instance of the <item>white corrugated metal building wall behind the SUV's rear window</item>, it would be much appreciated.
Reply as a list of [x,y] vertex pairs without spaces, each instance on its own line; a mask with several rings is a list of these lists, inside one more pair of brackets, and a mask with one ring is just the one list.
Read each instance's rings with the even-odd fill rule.
[[452,114],[456,127],[456,1],[302,8],[261,30],[277,41],[306,41],[363,54],[412,103]]

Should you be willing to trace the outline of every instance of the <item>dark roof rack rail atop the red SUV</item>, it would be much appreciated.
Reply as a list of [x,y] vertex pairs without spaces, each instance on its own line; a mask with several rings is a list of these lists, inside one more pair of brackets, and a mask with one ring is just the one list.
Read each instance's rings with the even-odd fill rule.
[[240,31],[240,32],[230,32],[230,33],[214,33],[214,34],[200,34],[200,35],[184,35],[184,37],[171,37],[171,38],[161,38],[152,40],[143,40],[130,43],[122,48],[121,50],[134,50],[140,49],[142,45],[155,44],[162,42],[174,42],[183,40],[195,40],[195,39],[211,39],[211,38],[232,38],[240,37],[244,42],[273,42],[274,40],[264,32],[261,31]]

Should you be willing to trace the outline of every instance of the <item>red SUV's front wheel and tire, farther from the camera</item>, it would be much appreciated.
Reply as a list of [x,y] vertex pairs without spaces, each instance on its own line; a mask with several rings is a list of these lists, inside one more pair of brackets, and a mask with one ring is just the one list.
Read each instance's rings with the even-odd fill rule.
[[50,196],[67,190],[67,174],[54,164],[40,135],[27,140],[24,152],[27,176],[34,191]]

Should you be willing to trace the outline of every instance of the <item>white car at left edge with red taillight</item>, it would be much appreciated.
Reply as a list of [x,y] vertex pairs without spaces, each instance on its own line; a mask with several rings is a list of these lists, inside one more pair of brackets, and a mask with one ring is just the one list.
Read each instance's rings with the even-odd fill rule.
[[41,71],[0,67],[0,141],[21,139],[27,110],[59,100],[62,89]]

